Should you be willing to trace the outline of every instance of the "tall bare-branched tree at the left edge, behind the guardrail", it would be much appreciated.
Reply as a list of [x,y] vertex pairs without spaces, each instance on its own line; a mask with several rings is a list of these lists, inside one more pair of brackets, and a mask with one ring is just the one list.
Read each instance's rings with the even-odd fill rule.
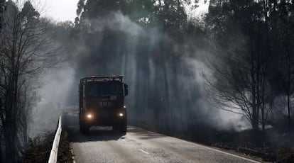
[[[27,123],[36,100],[38,77],[60,62],[50,22],[39,18],[30,1],[6,3],[0,49],[0,121],[4,162],[16,162],[28,143]],[[17,6],[21,6],[18,9]]]

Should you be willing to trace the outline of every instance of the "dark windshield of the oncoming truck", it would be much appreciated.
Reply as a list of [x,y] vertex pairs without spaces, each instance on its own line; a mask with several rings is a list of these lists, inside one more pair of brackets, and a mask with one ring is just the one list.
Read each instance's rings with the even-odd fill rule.
[[121,83],[91,83],[86,85],[85,91],[88,96],[123,94]]

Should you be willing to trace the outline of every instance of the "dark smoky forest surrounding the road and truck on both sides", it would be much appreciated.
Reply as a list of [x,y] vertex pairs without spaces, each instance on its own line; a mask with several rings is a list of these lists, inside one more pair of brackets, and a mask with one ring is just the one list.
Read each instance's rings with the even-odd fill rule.
[[[195,16],[198,2],[209,8]],[[21,162],[44,77],[64,67],[67,106],[82,77],[124,75],[129,124],[207,145],[294,147],[293,0],[80,0],[75,22],[31,1],[0,6],[4,162]]]

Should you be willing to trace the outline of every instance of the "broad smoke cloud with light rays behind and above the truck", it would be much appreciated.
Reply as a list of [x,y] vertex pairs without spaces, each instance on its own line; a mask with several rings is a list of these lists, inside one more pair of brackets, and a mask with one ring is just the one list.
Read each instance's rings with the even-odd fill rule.
[[[51,103],[56,110],[77,106],[82,77],[124,75],[129,84],[126,106],[131,123],[174,132],[197,125],[219,130],[248,127],[241,116],[214,108],[207,101],[202,73],[212,73],[200,60],[207,52],[195,49],[195,54],[181,54],[183,46],[159,28],[141,28],[120,12],[85,24],[87,30],[70,47],[69,66],[45,77],[38,110],[47,111],[44,103]],[[164,43],[174,43],[164,50],[175,55],[163,54]]]

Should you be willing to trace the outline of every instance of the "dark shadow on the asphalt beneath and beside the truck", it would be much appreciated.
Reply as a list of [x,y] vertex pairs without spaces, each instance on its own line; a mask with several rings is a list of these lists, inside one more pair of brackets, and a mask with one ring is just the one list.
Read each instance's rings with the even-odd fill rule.
[[77,113],[64,113],[62,116],[62,128],[69,133],[71,142],[109,141],[124,139],[124,135],[109,128],[90,128],[87,135],[82,135],[79,129]]

